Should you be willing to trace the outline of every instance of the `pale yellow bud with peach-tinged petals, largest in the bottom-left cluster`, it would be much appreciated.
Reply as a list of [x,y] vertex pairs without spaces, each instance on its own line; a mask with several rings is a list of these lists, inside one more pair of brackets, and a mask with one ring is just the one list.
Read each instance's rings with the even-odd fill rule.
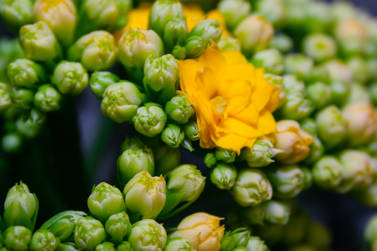
[[152,177],[147,171],[141,171],[124,187],[126,208],[143,219],[156,218],[165,205],[165,191],[166,182],[162,176]]

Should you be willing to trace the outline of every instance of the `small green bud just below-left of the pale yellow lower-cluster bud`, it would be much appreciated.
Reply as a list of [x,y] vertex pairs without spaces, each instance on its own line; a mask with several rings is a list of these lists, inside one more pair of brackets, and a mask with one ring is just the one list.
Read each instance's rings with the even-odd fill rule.
[[111,242],[120,244],[131,232],[131,223],[126,212],[110,216],[106,221],[105,230]]

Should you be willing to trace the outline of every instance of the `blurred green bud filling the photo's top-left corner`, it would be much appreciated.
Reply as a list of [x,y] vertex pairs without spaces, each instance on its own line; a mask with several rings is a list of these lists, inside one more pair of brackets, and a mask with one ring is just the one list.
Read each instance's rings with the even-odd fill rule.
[[0,3],[0,16],[15,34],[21,26],[32,23],[33,2],[31,0],[4,0]]

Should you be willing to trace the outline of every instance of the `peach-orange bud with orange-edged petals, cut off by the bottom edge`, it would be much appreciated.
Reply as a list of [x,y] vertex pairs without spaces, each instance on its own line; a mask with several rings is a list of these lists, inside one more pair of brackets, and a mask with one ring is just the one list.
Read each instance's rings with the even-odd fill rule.
[[225,231],[220,220],[222,218],[207,213],[192,214],[179,223],[170,238],[188,238],[196,251],[218,251]]

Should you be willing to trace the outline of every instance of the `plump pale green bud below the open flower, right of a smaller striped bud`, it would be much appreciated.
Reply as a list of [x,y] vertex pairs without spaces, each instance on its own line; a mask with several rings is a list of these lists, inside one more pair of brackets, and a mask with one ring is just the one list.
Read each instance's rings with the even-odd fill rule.
[[256,206],[272,197],[272,187],[267,176],[255,168],[240,171],[231,190],[234,200],[242,207]]

